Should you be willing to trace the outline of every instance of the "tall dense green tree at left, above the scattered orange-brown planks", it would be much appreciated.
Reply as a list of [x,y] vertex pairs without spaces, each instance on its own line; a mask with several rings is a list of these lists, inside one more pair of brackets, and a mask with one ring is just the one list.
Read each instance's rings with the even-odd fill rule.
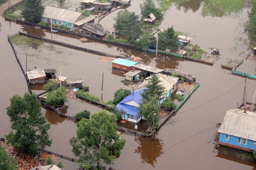
[[52,140],[47,131],[51,127],[41,113],[36,95],[25,93],[23,98],[14,95],[10,102],[11,105],[6,110],[13,131],[5,135],[7,143],[11,143],[20,152],[31,155],[38,154],[38,148],[50,146]]

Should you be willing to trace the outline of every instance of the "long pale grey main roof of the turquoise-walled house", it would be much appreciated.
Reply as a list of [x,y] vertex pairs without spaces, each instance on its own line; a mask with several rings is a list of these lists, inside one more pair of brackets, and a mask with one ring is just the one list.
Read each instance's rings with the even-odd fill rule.
[[79,20],[81,15],[84,15],[84,17],[86,17],[85,14],[82,14],[80,12],[61,9],[57,7],[45,6],[42,17],[52,18],[60,21],[65,21],[68,23],[75,23]]

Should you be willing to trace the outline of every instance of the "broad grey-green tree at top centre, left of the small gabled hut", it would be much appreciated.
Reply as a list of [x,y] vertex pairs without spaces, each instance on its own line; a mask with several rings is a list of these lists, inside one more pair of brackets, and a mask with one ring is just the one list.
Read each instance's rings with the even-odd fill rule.
[[142,23],[135,12],[129,12],[127,9],[119,11],[114,18],[114,28],[120,31],[129,43],[136,43],[142,34]]

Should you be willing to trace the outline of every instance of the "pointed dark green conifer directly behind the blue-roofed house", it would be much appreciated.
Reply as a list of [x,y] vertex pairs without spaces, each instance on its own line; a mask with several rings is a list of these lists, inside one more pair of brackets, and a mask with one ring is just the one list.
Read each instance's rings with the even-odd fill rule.
[[158,99],[160,99],[165,92],[165,87],[161,82],[162,81],[159,79],[157,74],[151,74],[151,78],[149,78],[149,83],[146,85],[146,89],[141,93],[142,98],[150,101],[152,98],[157,96]]

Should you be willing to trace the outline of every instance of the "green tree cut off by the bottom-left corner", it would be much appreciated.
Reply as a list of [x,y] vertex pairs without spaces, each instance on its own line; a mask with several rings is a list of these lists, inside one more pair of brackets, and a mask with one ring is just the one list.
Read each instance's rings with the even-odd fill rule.
[[5,148],[0,144],[0,170],[18,170],[15,159],[10,159]]

